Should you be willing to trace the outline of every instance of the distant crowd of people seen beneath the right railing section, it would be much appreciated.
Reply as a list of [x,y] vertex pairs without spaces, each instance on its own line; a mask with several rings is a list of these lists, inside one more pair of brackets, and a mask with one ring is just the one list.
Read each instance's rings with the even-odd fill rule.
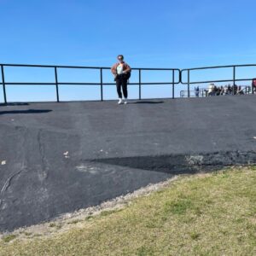
[[[249,88],[249,87],[248,87]],[[216,86],[215,84],[209,84],[207,89],[199,89],[199,86],[195,87],[195,96],[200,96],[200,91],[202,96],[222,96],[222,95],[243,95],[245,92],[242,90],[241,86],[239,85],[222,85]]]

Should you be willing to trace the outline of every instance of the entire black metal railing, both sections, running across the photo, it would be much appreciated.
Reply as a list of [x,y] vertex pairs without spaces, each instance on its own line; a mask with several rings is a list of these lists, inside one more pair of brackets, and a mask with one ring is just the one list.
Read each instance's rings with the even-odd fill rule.
[[[9,64],[9,63],[2,63],[0,64],[1,73],[2,73],[2,82],[0,85],[3,85],[3,98],[4,102],[7,103],[6,97],[6,85],[55,85],[56,87],[56,99],[59,102],[59,85],[100,85],[101,86],[101,100],[103,101],[103,85],[113,85],[115,83],[104,83],[102,70],[110,70],[111,67],[90,67],[90,66],[64,66],[64,65],[39,65],[39,64]],[[32,83],[32,82],[6,82],[4,77],[4,67],[45,67],[45,68],[54,68],[55,69],[55,82],[43,82],[43,83]],[[175,85],[177,84],[187,84],[188,85],[188,96],[190,96],[190,84],[207,84],[207,83],[224,83],[224,82],[233,82],[233,86],[238,81],[251,81],[253,78],[247,79],[236,79],[236,68],[237,67],[256,67],[256,64],[239,64],[239,65],[224,65],[224,66],[208,66],[208,67],[192,67],[192,68],[166,68],[166,67],[132,67],[132,70],[138,71],[138,83],[129,83],[130,85],[139,85],[139,100],[141,99],[141,86],[144,84],[172,84],[172,98],[175,98],[174,90]],[[61,68],[76,68],[76,69],[96,69],[100,71],[100,79],[98,83],[87,83],[87,82],[60,82],[58,79],[58,69]],[[206,69],[216,69],[216,68],[232,68],[233,70],[233,78],[232,79],[219,79],[219,80],[207,80],[207,81],[190,81],[190,72],[195,70],[206,70]],[[170,82],[142,82],[142,71],[172,71],[172,81]],[[178,77],[176,76],[176,72],[178,72]],[[183,81],[183,73],[187,72],[188,79],[186,82]],[[170,75],[171,78],[171,75]],[[177,78],[177,80],[176,80]],[[242,86],[242,85],[241,85]],[[248,85],[244,85],[248,86]],[[252,86],[252,93],[254,93],[253,84]],[[234,87],[233,87],[233,90]]]

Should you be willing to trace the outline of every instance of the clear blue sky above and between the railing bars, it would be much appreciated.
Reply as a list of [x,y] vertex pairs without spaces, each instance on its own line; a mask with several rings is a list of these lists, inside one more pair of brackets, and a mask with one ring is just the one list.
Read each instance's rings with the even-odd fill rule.
[[[110,67],[116,55],[123,54],[131,67],[256,63],[255,9],[253,0],[0,0],[0,62]],[[255,72],[243,70],[241,76],[253,76]],[[79,71],[61,73],[63,81],[72,77],[73,81],[90,80],[94,76]],[[143,79],[162,77],[166,74],[143,75]],[[7,80],[29,82],[41,78],[51,80],[51,71],[41,74],[38,70],[9,69]],[[107,73],[105,78],[107,82],[112,79]],[[137,79],[137,73],[133,79]],[[165,96],[169,89],[149,86],[143,93]],[[52,89],[9,86],[9,99],[25,97],[23,90],[31,92],[31,99],[50,100],[48,91]],[[71,93],[70,87],[61,90],[66,100],[72,93],[73,99],[85,92],[91,99],[98,95],[97,88],[90,89],[90,93],[88,88],[80,87],[77,93]],[[133,90],[136,97],[134,88],[131,96]],[[106,88],[105,95],[114,98],[114,87]]]

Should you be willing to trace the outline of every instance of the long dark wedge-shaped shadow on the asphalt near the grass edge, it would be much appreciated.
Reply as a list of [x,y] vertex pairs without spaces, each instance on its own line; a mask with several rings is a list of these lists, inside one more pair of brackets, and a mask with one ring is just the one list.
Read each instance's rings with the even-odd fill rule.
[[125,166],[172,175],[214,172],[224,166],[244,166],[256,163],[256,154],[248,152],[212,152],[205,154],[170,154],[155,156],[136,156],[93,160],[102,164]]

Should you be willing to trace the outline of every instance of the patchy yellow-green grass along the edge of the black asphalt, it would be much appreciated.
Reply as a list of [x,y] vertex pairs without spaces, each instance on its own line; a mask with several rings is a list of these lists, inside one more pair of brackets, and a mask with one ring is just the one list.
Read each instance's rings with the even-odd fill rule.
[[255,167],[180,177],[54,236],[3,238],[0,255],[256,255],[255,184]]

